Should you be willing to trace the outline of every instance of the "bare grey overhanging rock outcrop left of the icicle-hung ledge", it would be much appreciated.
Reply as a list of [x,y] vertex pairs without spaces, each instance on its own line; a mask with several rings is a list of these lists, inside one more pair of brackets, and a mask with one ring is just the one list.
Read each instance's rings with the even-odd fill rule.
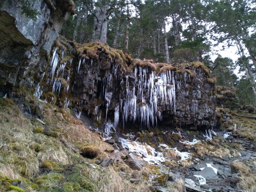
[[31,79],[37,80],[44,71],[67,11],[74,13],[72,0],[31,2],[31,9],[39,12],[34,20],[22,14],[21,1],[0,2],[0,85],[32,86]]

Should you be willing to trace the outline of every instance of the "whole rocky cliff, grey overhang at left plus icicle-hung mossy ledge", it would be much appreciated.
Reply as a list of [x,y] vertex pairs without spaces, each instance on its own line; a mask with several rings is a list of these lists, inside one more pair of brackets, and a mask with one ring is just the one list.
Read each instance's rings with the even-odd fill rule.
[[15,0],[0,3],[1,85],[35,87],[38,99],[71,108],[77,116],[82,111],[93,115],[96,127],[109,131],[130,123],[145,128],[216,125],[214,83],[200,62],[173,67],[133,60],[97,42],[55,41],[66,12],[73,13],[72,1],[36,1],[36,20],[22,15],[19,6]]

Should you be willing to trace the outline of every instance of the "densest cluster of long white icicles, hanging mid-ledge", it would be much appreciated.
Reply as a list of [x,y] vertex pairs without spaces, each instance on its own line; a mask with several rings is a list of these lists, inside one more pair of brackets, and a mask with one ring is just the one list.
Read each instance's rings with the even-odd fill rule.
[[[183,73],[180,80],[186,81],[188,77]],[[154,126],[157,119],[162,120],[159,102],[166,104],[176,114],[175,91],[180,90],[180,80],[171,70],[157,74],[148,68],[135,67],[134,77],[126,76],[125,82],[121,82],[122,94],[125,95],[120,98],[123,126],[128,118],[130,121],[138,119],[147,127],[150,123]]]

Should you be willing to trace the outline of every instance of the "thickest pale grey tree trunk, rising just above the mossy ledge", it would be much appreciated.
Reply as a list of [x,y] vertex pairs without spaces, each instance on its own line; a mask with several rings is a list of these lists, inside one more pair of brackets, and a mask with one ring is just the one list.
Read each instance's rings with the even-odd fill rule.
[[94,18],[93,41],[107,44],[107,27],[109,17],[109,3],[102,3],[101,7],[96,7]]

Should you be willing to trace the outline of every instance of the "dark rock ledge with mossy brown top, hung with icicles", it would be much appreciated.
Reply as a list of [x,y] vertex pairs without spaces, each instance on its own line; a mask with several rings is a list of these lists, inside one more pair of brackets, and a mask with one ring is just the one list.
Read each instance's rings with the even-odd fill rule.
[[200,62],[173,67],[132,60],[97,42],[58,42],[62,45],[52,51],[38,98],[72,108],[77,116],[82,111],[94,115],[105,131],[130,123],[145,128],[216,125],[214,83]]

